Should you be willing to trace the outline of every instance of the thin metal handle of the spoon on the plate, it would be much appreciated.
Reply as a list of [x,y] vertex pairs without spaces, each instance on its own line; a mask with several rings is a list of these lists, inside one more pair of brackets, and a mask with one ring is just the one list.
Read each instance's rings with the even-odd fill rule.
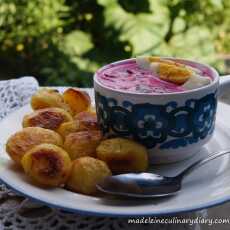
[[197,168],[197,167],[200,167],[201,165],[204,165],[206,163],[208,163],[209,161],[213,160],[213,159],[216,159],[220,156],[223,156],[223,155],[226,155],[230,153],[230,149],[228,150],[223,150],[221,152],[218,152],[216,154],[213,154],[211,156],[209,156],[208,158],[205,158],[205,159],[201,159],[201,160],[198,160],[196,162],[194,162],[193,164],[191,164],[188,168],[186,168],[185,170],[183,170],[180,174],[178,174],[176,177],[182,179],[182,177],[184,177],[186,174],[188,174],[189,172],[191,172],[193,169]]

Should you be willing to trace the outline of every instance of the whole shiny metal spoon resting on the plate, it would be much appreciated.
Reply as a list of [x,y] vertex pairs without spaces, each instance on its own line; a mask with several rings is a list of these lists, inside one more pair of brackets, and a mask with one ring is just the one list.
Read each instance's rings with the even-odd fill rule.
[[170,196],[180,191],[182,179],[193,169],[228,153],[230,153],[230,150],[224,150],[208,158],[198,160],[175,177],[161,176],[154,173],[127,173],[106,177],[96,186],[98,190],[104,193],[126,197]]

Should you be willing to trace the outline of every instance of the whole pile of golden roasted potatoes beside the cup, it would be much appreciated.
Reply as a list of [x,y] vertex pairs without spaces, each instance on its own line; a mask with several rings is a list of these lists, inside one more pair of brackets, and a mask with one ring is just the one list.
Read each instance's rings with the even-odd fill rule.
[[32,96],[31,107],[6,152],[35,184],[95,194],[96,184],[112,173],[147,169],[144,146],[119,137],[103,139],[87,93],[43,88]]

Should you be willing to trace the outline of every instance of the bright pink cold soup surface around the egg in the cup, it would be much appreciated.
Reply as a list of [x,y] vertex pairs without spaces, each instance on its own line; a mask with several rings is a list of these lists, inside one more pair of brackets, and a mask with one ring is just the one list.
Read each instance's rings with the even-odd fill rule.
[[[212,80],[207,69],[198,68],[194,64],[190,66],[199,69],[202,76]],[[110,64],[97,72],[97,79],[108,88],[131,93],[163,94],[188,91],[183,86],[159,79],[159,76],[149,70],[141,69],[135,60]]]

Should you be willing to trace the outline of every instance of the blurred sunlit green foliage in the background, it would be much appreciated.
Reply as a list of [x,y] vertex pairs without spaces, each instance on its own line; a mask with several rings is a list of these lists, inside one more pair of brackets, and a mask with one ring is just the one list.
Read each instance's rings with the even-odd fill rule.
[[186,57],[230,72],[229,0],[0,0],[0,79],[92,86],[100,66]]

